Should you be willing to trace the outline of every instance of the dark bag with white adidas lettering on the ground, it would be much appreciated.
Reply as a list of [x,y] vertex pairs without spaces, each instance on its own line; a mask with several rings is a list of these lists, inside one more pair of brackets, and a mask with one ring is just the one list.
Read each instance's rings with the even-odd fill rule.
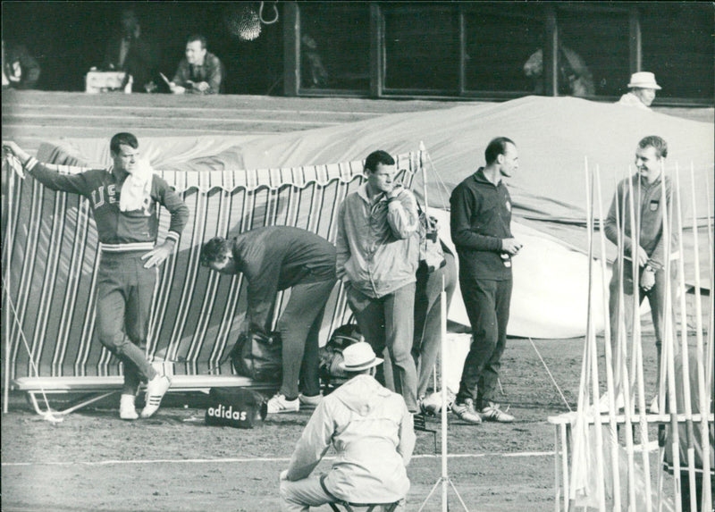
[[208,400],[207,425],[253,428],[268,412],[263,395],[252,390],[211,388]]

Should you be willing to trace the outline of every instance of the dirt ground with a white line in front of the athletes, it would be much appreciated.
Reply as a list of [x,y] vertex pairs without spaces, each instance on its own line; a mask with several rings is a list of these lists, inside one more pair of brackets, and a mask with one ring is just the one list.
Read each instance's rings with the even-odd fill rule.
[[[583,340],[534,345],[575,408]],[[644,356],[652,390],[652,340],[645,340]],[[568,407],[529,340],[510,339],[502,361],[502,407],[517,421],[470,425],[450,415],[450,481],[469,510],[552,510],[554,428],[547,418]],[[119,419],[117,402],[114,396],[51,424],[13,396],[2,418],[2,509],[278,510],[278,474],[310,411],[269,416],[252,430],[238,430],[206,426],[200,396],[168,395],[155,417],[136,422]],[[438,431],[439,444],[439,418],[427,426]],[[655,439],[654,432],[649,436]],[[438,455],[433,434],[417,432],[407,510],[418,510],[438,482]],[[440,485],[424,510],[440,510],[441,496]],[[449,499],[450,509],[461,509],[454,491]]]

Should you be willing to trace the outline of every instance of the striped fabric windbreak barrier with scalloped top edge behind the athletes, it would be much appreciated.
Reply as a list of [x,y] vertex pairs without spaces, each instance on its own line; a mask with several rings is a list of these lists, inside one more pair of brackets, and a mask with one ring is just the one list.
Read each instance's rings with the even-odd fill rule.
[[[420,155],[396,157],[411,187]],[[86,168],[59,165],[61,172]],[[3,362],[9,375],[106,376],[121,366],[96,339],[99,251],[88,199],[46,189],[27,176],[3,175]],[[175,374],[229,374],[223,363],[242,328],[248,283],[199,264],[202,245],[266,225],[289,225],[335,241],[343,198],[364,180],[363,162],[218,172],[156,171],[189,206],[175,253],[160,267],[147,356],[173,363]],[[159,208],[161,242],[170,214]],[[290,290],[279,292],[273,324]],[[325,307],[321,343],[346,323],[341,284]],[[38,368],[35,373],[31,361]],[[223,363],[220,365],[220,363]]]

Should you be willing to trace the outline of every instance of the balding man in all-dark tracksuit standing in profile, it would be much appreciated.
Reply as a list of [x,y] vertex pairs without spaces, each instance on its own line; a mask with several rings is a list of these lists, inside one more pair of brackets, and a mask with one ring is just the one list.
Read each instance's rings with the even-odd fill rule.
[[494,399],[507,344],[511,256],[522,247],[511,235],[511,198],[501,180],[518,168],[517,147],[509,138],[494,138],[484,155],[486,166],[459,183],[450,197],[459,287],[472,325],[472,344],[452,411],[473,424],[514,421]]

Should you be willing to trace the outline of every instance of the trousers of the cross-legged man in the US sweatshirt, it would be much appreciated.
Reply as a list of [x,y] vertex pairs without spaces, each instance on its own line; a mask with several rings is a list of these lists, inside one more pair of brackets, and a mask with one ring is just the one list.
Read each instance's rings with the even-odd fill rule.
[[97,275],[97,335],[122,361],[122,393],[130,395],[156,376],[144,347],[158,271],[144,268],[143,254],[102,253]]

